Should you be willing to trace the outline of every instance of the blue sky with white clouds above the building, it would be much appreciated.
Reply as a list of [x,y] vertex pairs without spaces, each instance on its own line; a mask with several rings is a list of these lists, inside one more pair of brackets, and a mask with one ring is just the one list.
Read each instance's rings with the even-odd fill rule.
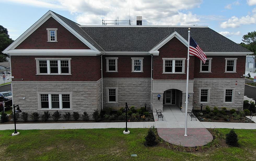
[[136,16],[142,25],[206,25],[236,43],[256,27],[256,0],[0,0],[0,25],[15,40],[48,10],[81,25],[136,25]]

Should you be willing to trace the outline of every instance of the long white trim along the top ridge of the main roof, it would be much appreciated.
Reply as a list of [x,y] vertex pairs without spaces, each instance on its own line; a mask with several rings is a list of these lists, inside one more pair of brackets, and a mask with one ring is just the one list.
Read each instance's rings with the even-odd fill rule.
[[208,26],[166,26],[166,25],[78,25],[79,27],[208,27]]

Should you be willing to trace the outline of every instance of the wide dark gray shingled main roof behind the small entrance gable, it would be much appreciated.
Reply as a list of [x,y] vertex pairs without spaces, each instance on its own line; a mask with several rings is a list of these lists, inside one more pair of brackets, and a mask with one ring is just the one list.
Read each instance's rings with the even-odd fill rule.
[[[188,41],[188,27],[81,27],[105,51],[150,51],[174,30]],[[250,52],[208,27],[190,35],[205,52]]]

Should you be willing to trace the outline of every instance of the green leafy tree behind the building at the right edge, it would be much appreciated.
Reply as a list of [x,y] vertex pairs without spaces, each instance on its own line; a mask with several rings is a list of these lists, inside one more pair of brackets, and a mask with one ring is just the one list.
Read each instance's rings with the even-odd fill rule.
[[240,45],[253,52],[254,61],[256,62],[256,31],[243,35],[242,41],[243,43],[240,43]]

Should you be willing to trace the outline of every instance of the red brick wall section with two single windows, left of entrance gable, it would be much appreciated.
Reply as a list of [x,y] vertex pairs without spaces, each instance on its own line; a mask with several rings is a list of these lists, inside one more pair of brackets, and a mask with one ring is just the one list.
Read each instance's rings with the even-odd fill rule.
[[[106,57],[118,57],[118,72],[106,72]],[[131,57],[143,57],[143,72],[132,72]],[[102,57],[103,78],[150,78],[151,55],[104,55]]]

